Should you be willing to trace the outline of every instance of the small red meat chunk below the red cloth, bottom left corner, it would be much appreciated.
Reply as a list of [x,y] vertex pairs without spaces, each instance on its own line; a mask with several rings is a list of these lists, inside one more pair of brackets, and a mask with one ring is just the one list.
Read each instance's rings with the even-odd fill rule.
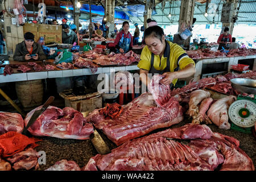
[[32,148],[28,148],[27,150],[18,152],[9,158],[6,158],[6,160],[13,165],[14,170],[29,170],[34,167],[35,169],[39,168],[38,157],[38,152]]

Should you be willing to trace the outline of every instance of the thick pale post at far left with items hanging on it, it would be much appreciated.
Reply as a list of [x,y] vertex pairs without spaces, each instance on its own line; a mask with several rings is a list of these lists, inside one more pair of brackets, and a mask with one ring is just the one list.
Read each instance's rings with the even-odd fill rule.
[[[13,1],[2,1],[2,10],[5,10],[5,6],[7,11],[9,11],[9,7],[10,9],[15,9]],[[23,27],[17,26],[16,24],[12,24],[11,18],[15,18],[14,14],[11,14],[10,12],[7,13],[6,11],[3,12],[3,35],[6,40],[7,55],[9,55],[10,57],[9,60],[13,60],[16,44],[24,40]]]

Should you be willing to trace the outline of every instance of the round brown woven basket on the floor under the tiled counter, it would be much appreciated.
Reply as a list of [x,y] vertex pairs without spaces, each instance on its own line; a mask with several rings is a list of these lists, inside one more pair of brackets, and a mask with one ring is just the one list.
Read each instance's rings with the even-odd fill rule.
[[18,100],[23,107],[34,107],[42,105],[42,80],[19,81],[16,82],[15,87]]

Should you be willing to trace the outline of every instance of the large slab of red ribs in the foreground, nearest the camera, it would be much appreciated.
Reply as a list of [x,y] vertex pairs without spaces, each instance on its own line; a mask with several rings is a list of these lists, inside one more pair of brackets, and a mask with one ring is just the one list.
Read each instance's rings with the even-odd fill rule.
[[83,170],[96,171],[254,171],[239,141],[213,133],[206,125],[188,124],[129,140],[106,155],[90,158]]

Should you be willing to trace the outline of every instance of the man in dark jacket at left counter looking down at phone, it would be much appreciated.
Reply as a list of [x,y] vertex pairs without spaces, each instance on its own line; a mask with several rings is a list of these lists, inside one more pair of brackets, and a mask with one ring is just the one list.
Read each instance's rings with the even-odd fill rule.
[[34,34],[26,32],[23,42],[16,45],[14,61],[42,61],[46,59],[42,47],[34,42]]

